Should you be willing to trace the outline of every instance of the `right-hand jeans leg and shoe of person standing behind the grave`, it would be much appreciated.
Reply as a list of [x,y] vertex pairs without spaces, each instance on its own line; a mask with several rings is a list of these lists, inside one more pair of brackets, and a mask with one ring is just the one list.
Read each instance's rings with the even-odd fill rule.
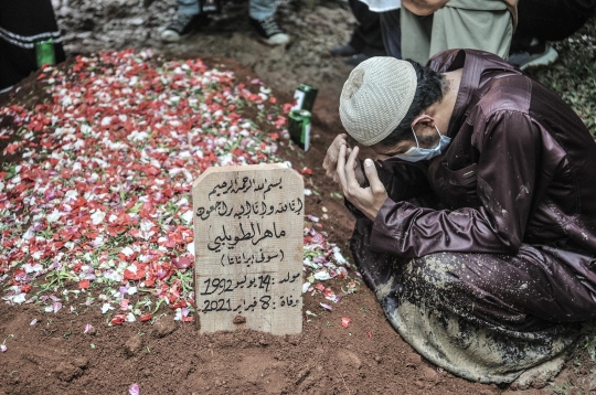
[[286,45],[290,36],[277,24],[276,8],[275,0],[249,0],[251,24],[263,42],[269,45]]

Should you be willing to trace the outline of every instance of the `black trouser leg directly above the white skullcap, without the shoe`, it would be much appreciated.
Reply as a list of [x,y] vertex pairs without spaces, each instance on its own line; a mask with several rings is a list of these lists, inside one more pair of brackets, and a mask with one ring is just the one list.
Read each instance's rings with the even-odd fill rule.
[[350,8],[358,21],[358,26],[352,33],[350,45],[358,52],[369,56],[384,55],[385,47],[383,46],[383,39],[381,36],[379,13],[369,10],[369,6],[359,0],[350,0]]

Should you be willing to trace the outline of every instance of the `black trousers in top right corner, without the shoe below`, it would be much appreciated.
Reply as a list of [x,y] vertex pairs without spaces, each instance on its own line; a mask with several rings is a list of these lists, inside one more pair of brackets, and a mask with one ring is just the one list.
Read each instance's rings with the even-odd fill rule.
[[594,0],[520,0],[513,41],[564,40],[584,25],[595,8]]

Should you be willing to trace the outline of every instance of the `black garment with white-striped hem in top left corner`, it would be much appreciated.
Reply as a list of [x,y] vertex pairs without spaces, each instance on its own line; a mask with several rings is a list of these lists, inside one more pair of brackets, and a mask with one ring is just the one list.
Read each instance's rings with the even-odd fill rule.
[[35,42],[54,40],[65,60],[51,0],[0,0],[0,92],[38,70]]

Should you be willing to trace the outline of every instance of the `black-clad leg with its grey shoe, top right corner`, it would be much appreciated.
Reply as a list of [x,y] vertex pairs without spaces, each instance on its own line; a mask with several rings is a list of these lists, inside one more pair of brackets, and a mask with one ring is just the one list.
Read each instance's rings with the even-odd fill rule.
[[565,40],[584,25],[596,1],[522,0],[509,62],[525,70],[544,66],[558,57],[549,41]]

